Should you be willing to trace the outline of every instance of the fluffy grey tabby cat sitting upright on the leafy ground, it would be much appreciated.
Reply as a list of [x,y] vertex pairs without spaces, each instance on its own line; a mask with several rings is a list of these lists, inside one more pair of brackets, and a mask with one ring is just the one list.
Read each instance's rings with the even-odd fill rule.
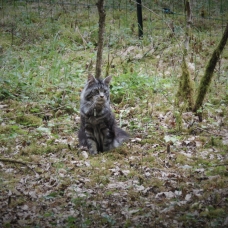
[[79,145],[86,146],[90,154],[111,150],[128,139],[128,134],[116,126],[110,108],[110,81],[111,76],[96,79],[89,75],[81,93]]

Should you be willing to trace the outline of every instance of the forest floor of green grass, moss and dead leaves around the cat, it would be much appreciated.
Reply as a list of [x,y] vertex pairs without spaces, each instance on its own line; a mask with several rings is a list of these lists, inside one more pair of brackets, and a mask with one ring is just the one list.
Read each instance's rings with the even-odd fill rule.
[[[0,227],[228,227],[228,50],[199,121],[175,106],[183,34],[151,41],[110,29],[104,72],[131,138],[90,156],[77,131],[97,26],[88,34],[87,24],[69,26],[73,17],[35,17],[15,34],[1,19]],[[219,36],[194,39],[197,89]]]

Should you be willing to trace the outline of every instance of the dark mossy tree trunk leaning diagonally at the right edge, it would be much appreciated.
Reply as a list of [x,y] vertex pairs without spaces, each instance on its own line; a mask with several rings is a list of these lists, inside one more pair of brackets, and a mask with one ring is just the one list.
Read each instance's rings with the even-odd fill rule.
[[214,69],[216,66],[216,63],[219,60],[219,57],[226,45],[228,39],[228,23],[226,25],[226,29],[223,33],[222,39],[218,45],[218,47],[214,50],[211,59],[209,60],[204,76],[202,77],[201,81],[200,81],[200,85],[199,85],[199,89],[198,89],[198,94],[196,97],[196,102],[193,108],[194,112],[197,112],[197,110],[202,106],[203,104],[203,100],[207,94],[208,88],[210,86],[211,83],[211,79],[214,73]]

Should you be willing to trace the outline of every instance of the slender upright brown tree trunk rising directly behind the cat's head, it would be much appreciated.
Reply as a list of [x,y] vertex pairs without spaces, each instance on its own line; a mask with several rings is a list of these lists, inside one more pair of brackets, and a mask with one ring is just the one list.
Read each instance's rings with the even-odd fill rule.
[[98,31],[98,46],[97,46],[97,60],[96,60],[96,78],[101,77],[101,66],[102,66],[102,53],[104,45],[104,30],[105,30],[105,10],[104,0],[98,0],[97,9],[99,13],[99,31]]

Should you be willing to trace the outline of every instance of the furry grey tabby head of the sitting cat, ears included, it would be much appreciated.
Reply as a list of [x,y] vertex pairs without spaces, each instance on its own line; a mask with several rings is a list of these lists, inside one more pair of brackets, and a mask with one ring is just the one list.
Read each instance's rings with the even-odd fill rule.
[[89,75],[86,87],[81,95],[82,98],[93,103],[97,108],[102,107],[106,102],[109,102],[110,81],[110,76],[100,80]]

